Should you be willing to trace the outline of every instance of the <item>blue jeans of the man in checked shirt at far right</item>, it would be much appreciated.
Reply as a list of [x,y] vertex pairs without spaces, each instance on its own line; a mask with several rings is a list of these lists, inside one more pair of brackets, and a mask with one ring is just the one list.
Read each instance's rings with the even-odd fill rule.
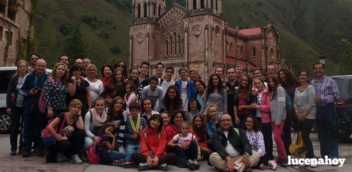
[[316,124],[320,142],[320,154],[329,158],[339,158],[339,140],[330,131],[330,123],[336,116],[334,103],[317,107]]

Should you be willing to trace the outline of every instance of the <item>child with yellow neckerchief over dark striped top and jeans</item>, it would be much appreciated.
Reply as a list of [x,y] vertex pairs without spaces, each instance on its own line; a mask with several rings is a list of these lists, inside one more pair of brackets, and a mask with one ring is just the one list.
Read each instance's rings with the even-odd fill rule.
[[147,122],[143,117],[140,117],[140,106],[134,102],[129,106],[131,116],[126,119],[126,128],[124,133],[126,152],[128,154],[140,153],[139,135],[140,132],[147,126]]

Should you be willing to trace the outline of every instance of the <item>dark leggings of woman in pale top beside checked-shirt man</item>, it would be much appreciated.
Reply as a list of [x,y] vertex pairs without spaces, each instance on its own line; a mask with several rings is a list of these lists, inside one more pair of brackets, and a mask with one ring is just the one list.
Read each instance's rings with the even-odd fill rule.
[[309,138],[314,121],[315,121],[314,119],[305,119],[300,126],[300,131],[302,132],[302,139],[308,150],[308,153],[306,154],[306,158],[314,158],[313,145],[312,145],[311,138]]

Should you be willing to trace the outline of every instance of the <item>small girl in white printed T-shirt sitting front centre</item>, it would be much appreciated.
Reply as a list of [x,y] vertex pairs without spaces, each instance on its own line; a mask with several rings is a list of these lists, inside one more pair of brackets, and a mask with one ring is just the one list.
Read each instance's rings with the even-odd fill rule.
[[180,125],[181,133],[174,136],[167,146],[173,147],[176,156],[188,162],[186,165],[188,169],[198,170],[200,168],[198,161],[200,161],[202,157],[197,138],[189,133],[190,128],[190,123],[183,121]]

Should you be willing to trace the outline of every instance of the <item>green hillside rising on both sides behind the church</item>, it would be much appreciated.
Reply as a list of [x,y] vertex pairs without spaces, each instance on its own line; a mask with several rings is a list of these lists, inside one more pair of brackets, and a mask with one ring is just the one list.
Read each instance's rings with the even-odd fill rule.
[[[178,1],[185,4],[185,0]],[[167,5],[172,2],[166,0]],[[94,64],[128,61],[130,4],[131,0],[39,0],[35,27],[38,51],[53,65],[63,52],[65,36],[58,28],[79,23],[86,55]],[[311,69],[324,52],[329,59],[328,74],[334,74],[336,64],[332,61],[336,62],[343,51],[342,39],[351,40],[351,0],[224,0],[223,6],[224,17],[232,27],[267,25],[270,15],[280,28],[280,50],[295,71]],[[95,17],[95,23],[83,22],[82,15]],[[121,52],[112,53],[113,46]]]

